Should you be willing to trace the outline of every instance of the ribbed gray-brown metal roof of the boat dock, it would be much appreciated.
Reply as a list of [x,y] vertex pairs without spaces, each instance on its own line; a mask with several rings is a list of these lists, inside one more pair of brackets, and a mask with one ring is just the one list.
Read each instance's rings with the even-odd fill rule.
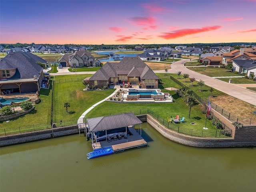
[[106,117],[97,117],[87,119],[89,129],[92,132],[109,130],[119,127],[125,127],[129,125],[141,124],[142,121],[139,120],[134,114],[118,114]]

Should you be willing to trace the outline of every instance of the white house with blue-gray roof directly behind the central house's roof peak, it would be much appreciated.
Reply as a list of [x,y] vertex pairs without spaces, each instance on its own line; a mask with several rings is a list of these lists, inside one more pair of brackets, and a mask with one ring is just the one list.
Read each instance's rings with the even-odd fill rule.
[[155,49],[146,50],[138,56],[144,61],[164,61],[164,52]]

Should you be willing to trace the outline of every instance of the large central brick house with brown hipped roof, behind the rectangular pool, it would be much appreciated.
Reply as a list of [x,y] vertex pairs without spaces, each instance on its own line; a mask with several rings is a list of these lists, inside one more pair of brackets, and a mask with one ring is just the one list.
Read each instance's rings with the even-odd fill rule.
[[109,84],[141,84],[141,88],[158,88],[158,76],[137,56],[124,57],[119,63],[107,62],[90,79],[89,86]]

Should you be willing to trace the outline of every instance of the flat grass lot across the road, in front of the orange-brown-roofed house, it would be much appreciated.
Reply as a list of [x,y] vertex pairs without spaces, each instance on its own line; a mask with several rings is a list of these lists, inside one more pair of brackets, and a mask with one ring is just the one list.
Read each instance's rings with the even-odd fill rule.
[[188,67],[188,69],[198,72],[200,74],[209,76],[209,77],[225,77],[225,76],[242,76],[240,74],[232,73],[225,68],[218,67]]

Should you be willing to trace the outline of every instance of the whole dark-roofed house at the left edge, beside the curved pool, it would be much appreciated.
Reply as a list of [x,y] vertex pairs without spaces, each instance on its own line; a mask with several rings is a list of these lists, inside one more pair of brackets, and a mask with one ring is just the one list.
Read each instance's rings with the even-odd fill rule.
[[0,59],[0,93],[32,93],[39,91],[43,81],[46,60],[30,52],[10,52]]

